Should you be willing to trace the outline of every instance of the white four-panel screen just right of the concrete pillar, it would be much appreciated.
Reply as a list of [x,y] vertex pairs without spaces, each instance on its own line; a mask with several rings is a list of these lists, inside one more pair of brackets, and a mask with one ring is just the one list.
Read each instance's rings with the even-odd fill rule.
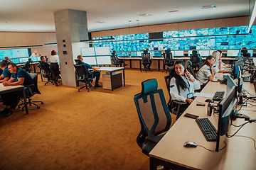
[[82,47],[84,62],[91,65],[110,65],[110,47]]

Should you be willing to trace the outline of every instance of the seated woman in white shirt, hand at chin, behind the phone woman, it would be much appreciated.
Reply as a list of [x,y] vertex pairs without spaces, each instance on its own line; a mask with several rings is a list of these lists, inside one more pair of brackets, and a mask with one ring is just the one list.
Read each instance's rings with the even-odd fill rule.
[[215,63],[215,58],[213,56],[206,57],[206,61],[203,62],[201,67],[199,67],[199,70],[197,72],[197,78],[200,81],[201,89],[203,89],[204,86],[206,86],[206,83],[208,80],[213,80],[214,78],[214,71],[213,66]]

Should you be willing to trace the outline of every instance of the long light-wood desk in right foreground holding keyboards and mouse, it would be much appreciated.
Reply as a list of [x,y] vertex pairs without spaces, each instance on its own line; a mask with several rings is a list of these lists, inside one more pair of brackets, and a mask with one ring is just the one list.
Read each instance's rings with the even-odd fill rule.
[[[244,83],[243,87],[250,94],[255,94],[253,84]],[[225,84],[209,82],[202,93],[213,94],[215,91],[225,91]],[[218,115],[207,115],[207,104],[205,107],[196,106],[196,101],[205,101],[206,98],[197,97],[191,106],[183,113],[199,115],[199,118],[209,118],[216,129],[218,129]],[[250,118],[256,118],[255,106],[243,106],[239,113],[245,113]],[[233,124],[241,125],[243,119],[237,119]],[[229,135],[238,130],[232,126]],[[256,123],[248,123],[237,135],[245,135],[256,139]],[[223,136],[225,137],[225,136]],[[215,150],[216,142],[207,142],[196,121],[191,118],[181,117],[174,123],[171,129],[164,135],[160,142],[151,150],[150,169],[156,169],[161,164],[170,169],[256,169],[256,151],[253,141],[246,137],[226,138],[227,146],[219,152],[209,152],[203,147],[183,147],[186,141],[196,142],[211,150]]]

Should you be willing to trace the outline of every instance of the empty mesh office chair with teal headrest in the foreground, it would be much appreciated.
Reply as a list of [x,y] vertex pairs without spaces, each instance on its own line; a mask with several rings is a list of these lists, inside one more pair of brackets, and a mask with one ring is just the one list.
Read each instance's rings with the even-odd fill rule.
[[164,136],[163,133],[171,127],[171,115],[166,105],[164,92],[157,88],[156,79],[142,81],[142,92],[134,96],[141,124],[137,144],[147,156]]

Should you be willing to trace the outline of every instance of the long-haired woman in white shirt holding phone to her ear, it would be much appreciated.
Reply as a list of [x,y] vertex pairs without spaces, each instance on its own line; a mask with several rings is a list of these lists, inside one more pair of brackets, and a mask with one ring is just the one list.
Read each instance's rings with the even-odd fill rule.
[[200,82],[186,70],[183,60],[177,60],[174,67],[174,77],[170,81],[170,94],[173,100],[187,103],[186,107],[181,108],[182,113],[193,102],[194,90],[200,89]]

